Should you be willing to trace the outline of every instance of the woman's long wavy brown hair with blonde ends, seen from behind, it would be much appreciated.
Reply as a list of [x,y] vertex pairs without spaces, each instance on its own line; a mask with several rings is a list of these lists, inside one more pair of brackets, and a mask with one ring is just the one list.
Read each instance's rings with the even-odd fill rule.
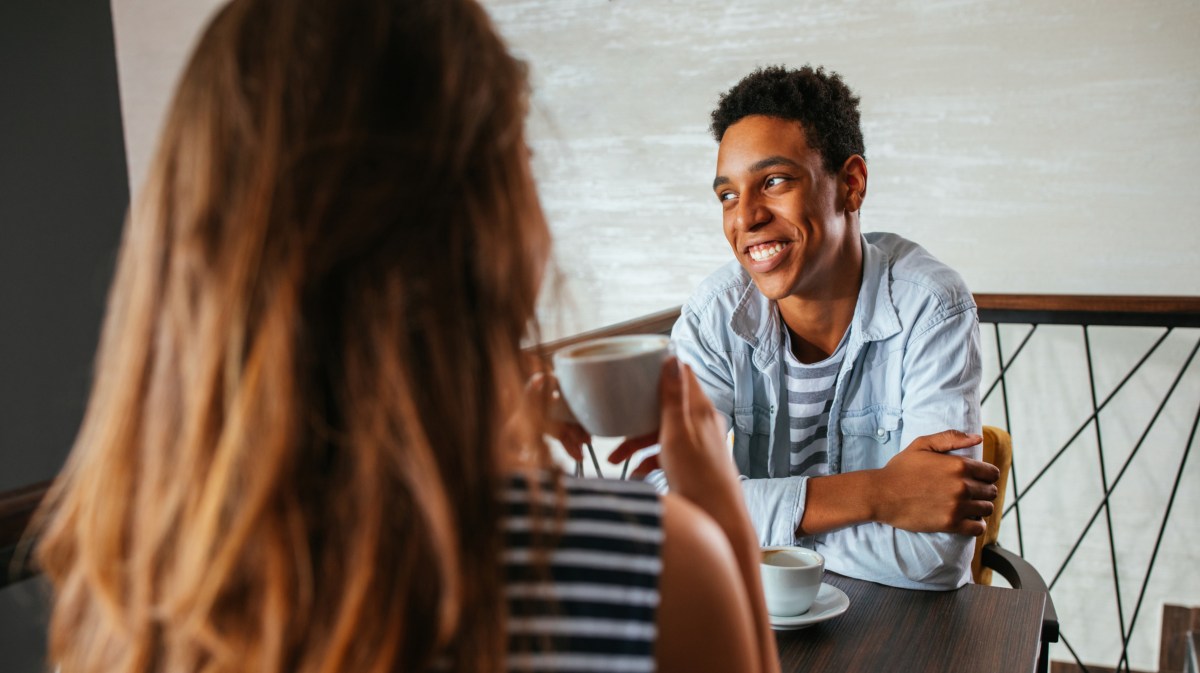
[[526,106],[474,0],[220,11],[40,517],[64,672],[503,667],[497,493],[548,461]]

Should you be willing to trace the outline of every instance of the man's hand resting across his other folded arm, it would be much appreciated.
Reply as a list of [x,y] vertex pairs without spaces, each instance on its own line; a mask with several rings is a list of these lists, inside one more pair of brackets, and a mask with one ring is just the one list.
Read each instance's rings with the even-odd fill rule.
[[983,440],[948,429],[918,437],[876,473],[875,521],[913,533],[983,535],[996,499],[996,465],[948,456]]

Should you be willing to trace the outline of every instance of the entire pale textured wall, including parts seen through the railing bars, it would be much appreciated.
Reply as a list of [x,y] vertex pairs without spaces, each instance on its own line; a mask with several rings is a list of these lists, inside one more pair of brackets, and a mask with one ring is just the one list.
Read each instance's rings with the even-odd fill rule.
[[[545,305],[550,336],[680,304],[728,258],[709,188],[716,146],[708,113],[720,91],[770,64],[842,73],[863,97],[864,228],[924,244],[974,290],[1200,295],[1195,0],[484,2],[533,68],[532,143],[564,290]],[[136,190],[175,73],[217,2],[113,5]],[[1075,335],[1046,332],[1030,348],[1031,365],[1014,372],[1026,380],[1014,385],[1058,391],[1070,379],[1076,387],[1049,407],[1014,404],[1019,450],[1033,464],[1075,429],[1068,419],[1088,409]],[[1102,386],[1115,385],[1128,354],[1135,359],[1153,337],[1099,334],[1097,348],[1118,354],[1098,372]],[[1178,362],[1187,344],[1168,350]],[[1169,366],[1153,367],[1121,405],[1142,422],[1163,387],[1154,381],[1171,375]],[[1170,488],[1165,470],[1178,462],[1188,404],[1200,391],[1184,392],[1146,449],[1152,458],[1132,468],[1118,493],[1126,620]],[[1001,417],[995,404],[985,409],[990,422]],[[1136,422],[1105,426],[1109,446],[1128,453]],[[1086,440],[1048,476],[1062,486],[1022,505],[1027,555],[1040,569],[1057,566],[1096,501]],[[1110,475],[1124,453],[1110,456]],[[1189,463],[1184,485],[1193,488],[1176,503],[1139,615],[1135,669],[1157,668],[1162,601],[1200,605],[1200,527],[1190,516],[1200,511],[1198,463]],[[1098,529],[1085,541],[1055,595],[1082,660],[1111,667],[1118,627],[1102,536]],[[1062,645],[1054,656],[1070,659]]]

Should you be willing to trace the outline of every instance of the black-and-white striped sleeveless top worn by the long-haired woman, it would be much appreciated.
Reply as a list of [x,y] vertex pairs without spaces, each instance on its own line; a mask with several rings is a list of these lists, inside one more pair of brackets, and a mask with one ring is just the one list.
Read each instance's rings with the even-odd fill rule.
[[548,537],[550,548],[553,485],[541,485],[536,504],[522,477],[505,491],[508,669],[654,671],[659,495],[637,481],[563,477],[563,486],[562,535]]

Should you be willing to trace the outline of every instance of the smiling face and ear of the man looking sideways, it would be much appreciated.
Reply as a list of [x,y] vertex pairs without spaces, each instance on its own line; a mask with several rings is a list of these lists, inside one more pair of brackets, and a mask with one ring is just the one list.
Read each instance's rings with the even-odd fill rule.
[[716,155],[713,191],[725,238],[758,290],[775,301],[820,292],[858,245],[846,212],[853,190],[841,174],[826,172],[804,136],[799,122],[748,116],[725,131]]

